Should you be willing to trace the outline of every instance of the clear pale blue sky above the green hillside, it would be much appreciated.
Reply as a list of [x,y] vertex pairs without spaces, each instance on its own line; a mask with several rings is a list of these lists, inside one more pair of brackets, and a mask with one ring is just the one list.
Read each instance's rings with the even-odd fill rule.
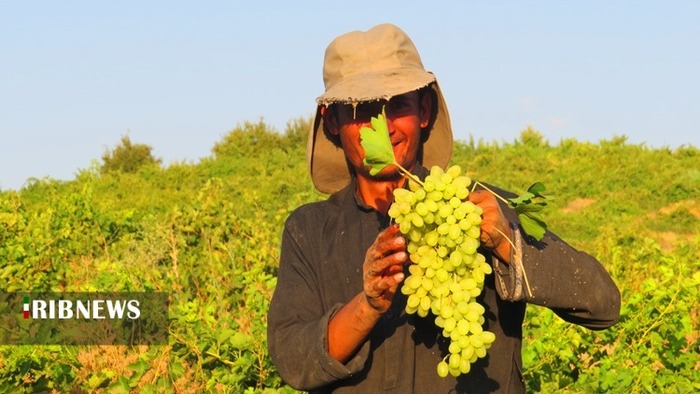
[[456,139],[700,146],[700,2],[432,3],[2,2],[0,189],[72,179],[123,135],[167,165],[245,121],[283,131],[313,113],[326,45],[382,22],[437,75]]

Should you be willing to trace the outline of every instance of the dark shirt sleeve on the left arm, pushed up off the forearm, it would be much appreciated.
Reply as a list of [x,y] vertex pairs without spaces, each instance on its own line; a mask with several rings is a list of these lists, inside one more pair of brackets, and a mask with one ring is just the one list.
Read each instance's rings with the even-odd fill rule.
[[365,342],[345,364],[328,353],[328,322],[342,304],[324,310],[318,278],[305,254],[313,248],[300,244],[307,238],[296,230],[296,224],[288,221],[282,236],[277,287],[268,311],[268,350],[287,384],[313,390],[362,370],[370,345]]

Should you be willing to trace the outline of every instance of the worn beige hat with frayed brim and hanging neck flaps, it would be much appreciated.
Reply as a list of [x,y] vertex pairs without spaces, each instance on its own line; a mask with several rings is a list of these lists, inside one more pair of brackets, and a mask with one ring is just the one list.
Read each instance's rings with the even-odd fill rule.
[[314,186],[332,194],[350,182],[343,150],[323,131],[321,107],[333,103],[357,104],[388,100],[430,86],[437,97],[437,114],[423,143],[422,164],[446,167],[452,156],[452,126],[435,75],[423,67],[411,39],[392,24],[366,32],[354,31],[333,40],[323,65],[326,91],[316,99],[316,116],[309,133],[306,158]]

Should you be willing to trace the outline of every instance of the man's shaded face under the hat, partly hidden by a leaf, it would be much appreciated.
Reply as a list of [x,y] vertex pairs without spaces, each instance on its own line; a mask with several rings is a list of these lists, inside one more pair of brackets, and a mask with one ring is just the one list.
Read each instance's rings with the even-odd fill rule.
[[[428,125],[431,111],[431,96],[417,91],[391,98],[390,100],[360,103],[356,108],[349,104],[334,104],[333,114],[324,117],[329,131],[340,137],[345,157],[358,175],[369,177],[369,169],[363,164],[364,149],[360,145],[360,128],[371,127],[370,119],[382,112],[384,107],[389,137],[396,161],[411,169],[417,160],[421,144],[421,128]],[[377,174],[378,179],[395,179],[400,176],[398,168],[391,165]]]

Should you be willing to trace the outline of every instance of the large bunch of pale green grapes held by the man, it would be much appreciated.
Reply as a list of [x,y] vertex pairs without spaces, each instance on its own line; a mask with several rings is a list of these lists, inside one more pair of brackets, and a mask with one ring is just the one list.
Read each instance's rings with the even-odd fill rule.
[[441,377],[468,373],[496,339],[483,329],[485,309],[476,301],[492,269],[477,252],[482,210],[467,201],[470,184],[459,166],[435,166],[422,185],[409,180],[408,189],[396,189],[389,208],[412,262],[401,288],[406,312],[432,313],[450,340],[449,354],[437,365]]

